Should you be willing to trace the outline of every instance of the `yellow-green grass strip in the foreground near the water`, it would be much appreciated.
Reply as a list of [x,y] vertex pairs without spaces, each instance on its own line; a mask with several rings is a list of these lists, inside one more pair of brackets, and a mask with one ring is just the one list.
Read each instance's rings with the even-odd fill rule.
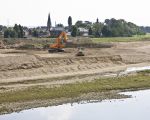
[[0,103],[75,98],[90,92],[146,88],[150,88],[150,77],[144,73],[139,73],[136,76],[98,79],[92,82],[66,84],[54,88],[35,86],[24,90],[4,92],[0,94]]

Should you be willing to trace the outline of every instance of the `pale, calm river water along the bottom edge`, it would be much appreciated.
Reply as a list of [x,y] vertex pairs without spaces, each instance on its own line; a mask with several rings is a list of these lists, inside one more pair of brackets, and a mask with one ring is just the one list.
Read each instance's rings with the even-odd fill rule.
[[1,115],[0,120],[150,120],[150,90],[124,94],[132,98],[35,108]]

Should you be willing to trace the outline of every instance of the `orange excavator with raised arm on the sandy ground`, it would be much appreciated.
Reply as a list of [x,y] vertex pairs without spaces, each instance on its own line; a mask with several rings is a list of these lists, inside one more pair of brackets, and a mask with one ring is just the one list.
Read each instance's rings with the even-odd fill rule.
[[58,38],[55,39],[55,43],[49,45],[49,53],[54,52],[64,52],[62,48],[65,47],[65,43],[67,42],[68,37],[66,32],[61,32]]

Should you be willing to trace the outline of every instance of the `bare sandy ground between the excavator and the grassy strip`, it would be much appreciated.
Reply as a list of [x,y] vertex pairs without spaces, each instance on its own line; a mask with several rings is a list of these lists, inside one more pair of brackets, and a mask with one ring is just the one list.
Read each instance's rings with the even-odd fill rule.
[[131,66],[149,65],[149,41],[112,44],[111,48],[85,48],[83,57],[75,56],[75,48],[52,54],[37,50],[0,49],[0,88],[89,81],[108,74],[115,76]]

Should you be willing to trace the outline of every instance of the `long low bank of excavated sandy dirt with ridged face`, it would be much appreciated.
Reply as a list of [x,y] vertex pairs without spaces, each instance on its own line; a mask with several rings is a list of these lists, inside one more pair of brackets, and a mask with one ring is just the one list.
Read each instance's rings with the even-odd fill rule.
[[0,78],[21,78],[76,73],[121,65],[120,56],[41,58],[34,55],[7,56],[0,59]]

